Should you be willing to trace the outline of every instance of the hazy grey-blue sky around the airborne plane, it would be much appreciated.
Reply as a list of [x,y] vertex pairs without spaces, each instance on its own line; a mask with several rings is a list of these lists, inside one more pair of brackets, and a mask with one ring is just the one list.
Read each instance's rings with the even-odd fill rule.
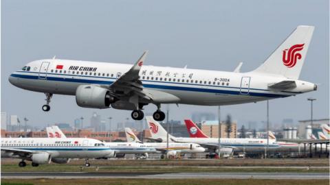
[[[300,79],[320,84],[315,92],[270,101],[270,120],[310,118],[307,97],[318,99],[316,119],[329,118],[329,1],[1,1],[1,112],[35,125],[73,123],[96,111],[115,122],[131,119],[124,110],[80,108],[75,97],[45,95],[12,86],[10,73],[44,58],[132,64],[145,49],[145,64],[194,69],[251,71],[296,28],[314,25]],[[166,108],[166,106],[163,106]],[[146,106],[145,113],[155,106]],[[265,101],[221,107],[239,123],[265,120]],[[170,119],[212,106],[170,106]],[[86,122],[85,122],[86,123]]]

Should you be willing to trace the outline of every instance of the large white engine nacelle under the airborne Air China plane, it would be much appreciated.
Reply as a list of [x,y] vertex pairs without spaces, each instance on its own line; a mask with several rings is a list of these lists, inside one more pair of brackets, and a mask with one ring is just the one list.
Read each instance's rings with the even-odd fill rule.
[[83,108],[109,108],[116,100],[109,90],[99,86],[80,85],[76,90],[76,102]]

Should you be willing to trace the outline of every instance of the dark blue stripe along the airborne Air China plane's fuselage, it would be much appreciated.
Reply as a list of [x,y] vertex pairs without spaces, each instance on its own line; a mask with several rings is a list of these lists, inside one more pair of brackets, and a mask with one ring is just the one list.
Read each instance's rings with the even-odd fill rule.
[[[12,74],[12,77],[21,77],[25,79],[39,79],[39,76],[36,75],[19,75]],[[72,78],[63,78],[63,77],[47,77],[47,80],[58,81],[58,82],[77,82],[77,83],[87,83],[87,84],[106,84],[111,85],[113,82],[94,80],[94,79],[72,79]],[[242,95],[240,91],[235,90],[217,90],[217,89],[208,89],[208,88],[192,88],[192,87],[182,87],[182,86],[166,86],[166,85],[155,85],[155,84],[143,84],[146,88],[160,88],[160,89],[169,89],[169,90],[186,90],[194,92],[203,92],[203,93],[220,93],[228,95]],[[289,95],[275,95],[267,93],[252,93],[249,92],[250,96],[256,97],[289,97]]]

